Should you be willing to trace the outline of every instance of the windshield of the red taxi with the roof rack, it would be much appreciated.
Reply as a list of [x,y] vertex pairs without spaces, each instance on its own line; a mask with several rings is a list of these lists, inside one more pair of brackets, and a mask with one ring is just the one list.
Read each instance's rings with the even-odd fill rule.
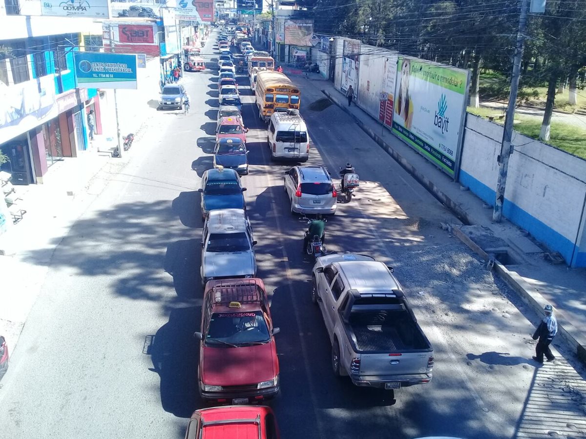
[[206,346],[228,344],[246,346],[271,341],[262,311],[213,313],[207,330]]

